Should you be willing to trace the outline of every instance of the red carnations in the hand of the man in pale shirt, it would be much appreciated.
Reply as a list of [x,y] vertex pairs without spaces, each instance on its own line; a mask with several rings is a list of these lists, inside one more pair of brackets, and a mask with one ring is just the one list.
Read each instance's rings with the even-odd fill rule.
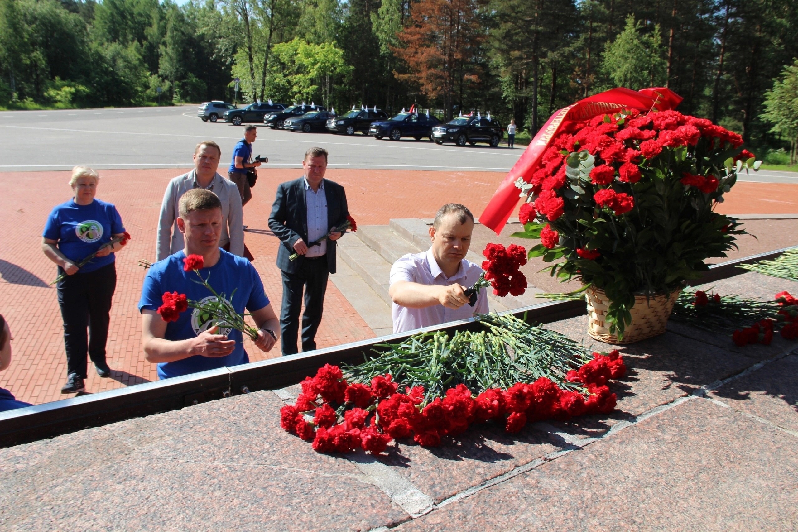
[[527,250],[523,246],[510,244],[488,244],[482,254],[488,260],[482,262],[484,272],[473,286],[464,290],[470,299],[468,305],[476,304],[476,294],[480,288],[493,287],[493,294],[504,298],[507,294],[519,296],[527,290],[527,278],[519,270],[527,263]]

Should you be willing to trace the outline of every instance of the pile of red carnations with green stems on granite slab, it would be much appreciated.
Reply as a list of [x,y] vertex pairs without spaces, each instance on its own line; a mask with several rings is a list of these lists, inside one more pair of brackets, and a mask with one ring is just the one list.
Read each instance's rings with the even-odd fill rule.
[[378,345],[361,365],[325,365],[281,409],[287,432],[319,452],[385,451],[392,439],[440,445],[471,424],[507,432],[527,422],[607,413],[607,382],[626,372],[618,352],[591,353],[512,315],[484,314],[479,331],[420,333]]

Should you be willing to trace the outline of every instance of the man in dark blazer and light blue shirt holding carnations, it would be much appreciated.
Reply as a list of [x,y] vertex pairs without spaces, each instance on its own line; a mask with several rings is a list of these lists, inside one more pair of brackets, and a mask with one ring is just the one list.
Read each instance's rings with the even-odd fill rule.
[[[341,232],[330,232],[346,222],[344,187],[324,179],[327,151],[310,148],[302,161],[305,175],[280,183],[275,204],[271,207],[269,227],[280,239],[277,266],[282,273],[282,354],[298,353],[297,333],[302,290],[305,313],[302,314],[302,351],[316,349],[316,331],[322,321],[327,278],[335,273],[336,240]],[[330,237],[319,240],[330,232]],[[313,244],[313,245],[310,245]],[[290,260],[291,254],[298,254]]]

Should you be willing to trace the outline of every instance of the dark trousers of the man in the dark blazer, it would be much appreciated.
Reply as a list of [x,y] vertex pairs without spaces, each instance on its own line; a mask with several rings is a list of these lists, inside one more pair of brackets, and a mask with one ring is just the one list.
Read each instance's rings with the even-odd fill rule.
[[302,314],[302,352],[316,349],[316,331],[322,322],[324,294],[330,270],[326,256],[302,258],[302,264],[294,274],[282,271],[282,309],[280,329],[282,331],[282,354],[293,355],[297,350],[299,311],[302,309],[302,288],[305,289],[305,313]]

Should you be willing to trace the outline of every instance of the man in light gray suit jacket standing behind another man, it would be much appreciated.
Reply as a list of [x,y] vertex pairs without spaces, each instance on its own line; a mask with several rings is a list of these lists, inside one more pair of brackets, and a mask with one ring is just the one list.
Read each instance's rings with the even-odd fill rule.
[[169,181],[160,206],[156,262],[162,261],[185,246],[183,233],[177,230],[177,203],[186,191],[205,188],[222,202],[222,236],[219,247],[239,257],[244,256],[243,208],[239,189],[230,179],[216,172],[222,149],[213,140],[203,140],[194,148],[194,169]]

